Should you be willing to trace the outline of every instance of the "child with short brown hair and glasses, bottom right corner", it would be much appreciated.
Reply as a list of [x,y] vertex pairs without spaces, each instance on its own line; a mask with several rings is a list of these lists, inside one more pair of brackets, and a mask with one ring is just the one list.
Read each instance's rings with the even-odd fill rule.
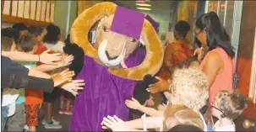
[[247,98],[239,92],[220,91],[215,95],[212,114],[219,119],[213,129],[215,131],[236,131],[233,119],[242,114],[247,107]]

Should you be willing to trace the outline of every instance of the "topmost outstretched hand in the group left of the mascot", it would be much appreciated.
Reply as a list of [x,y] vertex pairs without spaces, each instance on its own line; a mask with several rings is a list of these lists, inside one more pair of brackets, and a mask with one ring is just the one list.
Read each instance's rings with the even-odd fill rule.
[[49,53],[51,50],[46,50],[41,53],[40,56],[40,62],[45,63],[45,64],[52,64],[52,65],[57,65],[57,61],[62,60],[62,55],[61,53],[54,53],[51,54]]

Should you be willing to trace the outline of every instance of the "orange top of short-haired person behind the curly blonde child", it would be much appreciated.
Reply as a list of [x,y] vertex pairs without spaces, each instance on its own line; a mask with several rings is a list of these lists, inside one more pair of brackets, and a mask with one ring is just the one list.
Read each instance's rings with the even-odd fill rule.
[[[179,41],[172,42],[168,45],[166,45],[166,50],[165,50],[165,60],[166,60],[166,55],[171,54],[172,56],[172,64],[174,66],[177,66],[177,64],[181,61],[185,61],[190,57],[193,57],[193,50],[188,49],[186,44],[181,44]],[[166,54],[167,52],[167,54]],[[168,57],[168,56],[167,56]],[[164,60],[164,61],[165,61]],[[165,62],[163,66],[161,67],[160,71],[160,77],[163,79],[172,79],[172,73],[166,69]]]

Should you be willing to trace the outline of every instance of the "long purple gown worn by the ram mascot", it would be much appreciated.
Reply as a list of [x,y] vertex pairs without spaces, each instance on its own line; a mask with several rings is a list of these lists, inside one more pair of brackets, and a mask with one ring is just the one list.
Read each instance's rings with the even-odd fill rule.
[[[146,52],[139,47],[126,59],[128,67],[138,66]],[[77,79],[84,79],[84,90],[75,98],[69,131],[102,131],[101,122],[107,115],[117,115],[128,120],[125,100],[133,97],[136,81],[116,77],[107,67],[84,56],[84,67]]]

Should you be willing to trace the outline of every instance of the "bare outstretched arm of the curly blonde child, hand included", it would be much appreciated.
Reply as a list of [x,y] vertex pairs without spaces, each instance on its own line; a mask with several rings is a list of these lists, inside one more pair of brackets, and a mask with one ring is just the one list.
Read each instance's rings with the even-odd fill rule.
[[132,100],[126,100],[125,104],[127,105],[128,108],[138,109],[139,111],[143,112],[144,114],[149,114],[152,117],[159,117],[159,116],[163,115],[162,111],[157,111],[157,110],[155,110],[155,108],[148,108],[148,107],[144,107],[143,105],[139,104],[139,102],[135,98],[132,98]]

